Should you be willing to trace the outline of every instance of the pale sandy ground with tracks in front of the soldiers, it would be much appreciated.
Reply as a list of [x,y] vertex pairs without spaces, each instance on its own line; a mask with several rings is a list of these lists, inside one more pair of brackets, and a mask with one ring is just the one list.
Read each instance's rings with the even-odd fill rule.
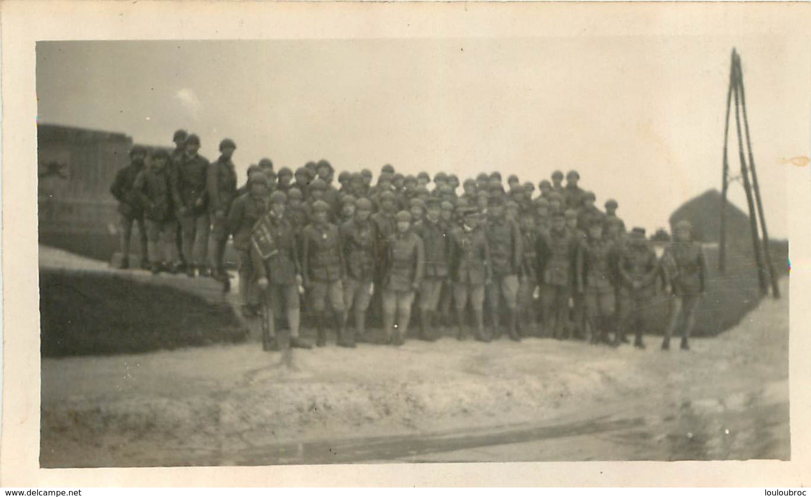
[[788,295],[693,350],[255,341],[42,361],[41,465],[789,457]]

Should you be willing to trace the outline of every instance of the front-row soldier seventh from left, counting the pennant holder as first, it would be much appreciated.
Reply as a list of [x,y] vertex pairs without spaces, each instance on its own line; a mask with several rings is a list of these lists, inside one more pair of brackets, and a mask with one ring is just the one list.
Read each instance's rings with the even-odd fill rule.
[[487,287],[487,301],[493,320],[493,338],[501,336],[499,306],[503,298],[509,312],[509,337],[519,341],[518,321],[518,270],[523,258],[521,230],[504,212],[504,200],[492,197],[488,206],[489,215],[484,234],[490,251],[492,282]]

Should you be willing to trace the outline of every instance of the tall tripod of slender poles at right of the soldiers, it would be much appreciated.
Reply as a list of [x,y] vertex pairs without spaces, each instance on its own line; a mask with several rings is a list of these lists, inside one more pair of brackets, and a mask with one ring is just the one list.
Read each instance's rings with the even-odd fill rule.
[[[727,117],[723,128],[723,188],[721,189],[721,240],[718,260],[719,270],[722,273],[727,270],[727,190],[732,180],[739,179],[738,177],[730,177],[727,157],[729,116],[733,100],[735,102],[735,122],[738,136],[738,157],[740,158],[740,179],[744,184],[746,203],[749,205],[749,225],[752,231],[752,245],[757,264],[757,281],[760,284],[761,294],[766,295],[769,292],[769,282],[766,279],[769,278],[771,295],[777,299],[780,297],[780,289],[775,278],[774,267],[771,264],[769,231],[766,230],[766,217],[763,214],[760,187],[757,184],[752,140],[749,137],[749,118],[746,115],[746,97],[744,95],[744,73],[740,67],[740,55],[735,49],[732,49],[732,67],[729,71],[729,89],[727,91]],[[741,115],[743,115],[743,131],[740,124]],[[748,155],[744,153],[744,136]],[[750,172],[752,175],[751,181],[749,180]],[[758,231],[758,221],[763,234],[762,238],[760,231]]]

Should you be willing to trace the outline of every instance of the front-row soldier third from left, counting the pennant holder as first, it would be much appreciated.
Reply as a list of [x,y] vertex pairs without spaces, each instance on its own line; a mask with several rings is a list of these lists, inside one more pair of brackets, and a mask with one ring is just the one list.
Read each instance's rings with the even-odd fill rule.
[[355,331],[348,341],[366,341],[366,311],[371,303],[380,261],[375,226],[371,222],[371,201],[359,198],[355,204],[354,218],[341,224],[341,247],[346,261],[344,279],[345,316],[354,311]]

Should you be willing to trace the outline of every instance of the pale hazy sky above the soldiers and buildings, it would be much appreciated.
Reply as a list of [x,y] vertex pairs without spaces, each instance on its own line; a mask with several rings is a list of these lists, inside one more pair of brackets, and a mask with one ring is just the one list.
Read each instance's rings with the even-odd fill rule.
[[[733,45],[770,235],[787,236],[782,158],[807,154],[808,81],[786,38],[475,38],[354,41],[72,41],[37,45],[38,119],[170,145],[184,127],[241,177],[327,158],[380,166],[499,170],[506,179],[577,169],[629,226],[667,225],[721,183]],[[802,64],[807,61],[799,61]],[[800,97],[801,96],[801,97]],[[731,165],[739,169],[734,121]],[[732,201],[745,211],[740,185]]]

